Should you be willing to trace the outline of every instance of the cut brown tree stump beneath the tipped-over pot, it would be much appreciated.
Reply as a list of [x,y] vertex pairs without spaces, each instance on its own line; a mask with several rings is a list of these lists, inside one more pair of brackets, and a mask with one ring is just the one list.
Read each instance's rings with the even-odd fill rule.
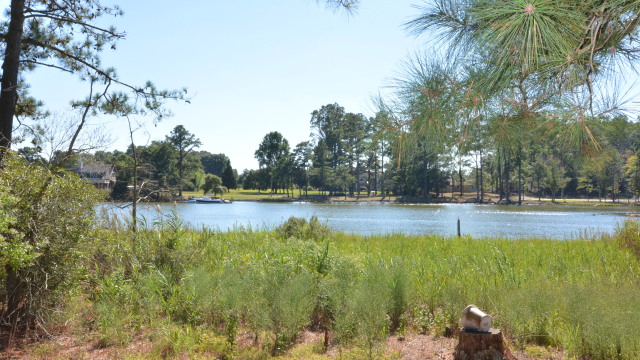
[[454,360],[516,360],[502,339],[502,331],[463,330]]

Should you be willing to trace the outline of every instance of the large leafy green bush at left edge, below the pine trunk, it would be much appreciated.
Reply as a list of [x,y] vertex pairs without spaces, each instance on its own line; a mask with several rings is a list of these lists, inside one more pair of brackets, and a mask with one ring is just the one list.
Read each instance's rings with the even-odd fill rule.
[[96,236],[93,186],[6,152],[0,172],[0,279],[9,313],[44,315],[86,274]]

